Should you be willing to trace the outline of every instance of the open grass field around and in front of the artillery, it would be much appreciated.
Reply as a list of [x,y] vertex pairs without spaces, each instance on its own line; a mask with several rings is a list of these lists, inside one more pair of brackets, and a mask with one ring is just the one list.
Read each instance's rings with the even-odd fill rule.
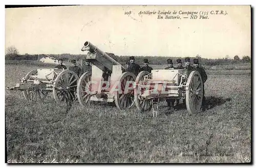
[[[5,83],[15,86],[34,66],[6,65]],[[9,162],[243,162],[251,158],[250,70],[206,71],[207,110],[168,113],[158,118],[136,107],[75,103],[67,112],[52,94],[29,105],[21,92],[5,90]],[[68,160],[69,159],[69,160]]]

